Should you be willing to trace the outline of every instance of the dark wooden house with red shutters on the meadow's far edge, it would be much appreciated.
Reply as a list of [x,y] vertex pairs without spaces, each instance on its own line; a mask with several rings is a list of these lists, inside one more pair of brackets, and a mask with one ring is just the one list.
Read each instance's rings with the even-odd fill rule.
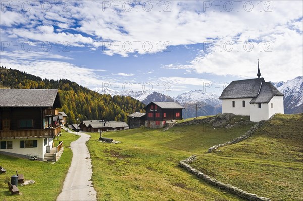
[[162,128],[166,121],[181,120],[181,105],[175,102],[151,102],[143,109],[146,111],[145,127]]

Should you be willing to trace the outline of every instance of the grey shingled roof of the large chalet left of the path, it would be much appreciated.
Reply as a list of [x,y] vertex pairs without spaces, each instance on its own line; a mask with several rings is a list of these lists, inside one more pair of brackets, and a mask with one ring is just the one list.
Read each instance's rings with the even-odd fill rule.
[[0,107],[61,107],[57,89],[0,89]]

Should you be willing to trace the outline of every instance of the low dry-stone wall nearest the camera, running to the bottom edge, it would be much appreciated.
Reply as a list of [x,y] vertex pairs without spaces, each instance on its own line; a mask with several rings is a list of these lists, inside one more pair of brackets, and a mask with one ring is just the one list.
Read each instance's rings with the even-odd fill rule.
[[208,182],[209,184],[218,187],[219,189],[225,190],[226,192],[232,193],[234,195],[237,195],[238,197],[250,200],[250,201],[270,201],[269,198],[266,197],[259,197],[256,194],[252,194],[252,193],[248,193],[244,190],[241,190],[237,187],[234,187],[230,184],[224,184],[214,178],[209,177],[208,175],[198,171],[195,168],[192,168],[189,164],[187,163],[191,163],[192,161],[196,160],[196,156],[192,155],[191,157],[188,157],[185,160],[182,160],[179,162],[179,167],[182,167],[184,169],[186,169],[188,172],[196,175],[198,178],[205,180],[206,182]]

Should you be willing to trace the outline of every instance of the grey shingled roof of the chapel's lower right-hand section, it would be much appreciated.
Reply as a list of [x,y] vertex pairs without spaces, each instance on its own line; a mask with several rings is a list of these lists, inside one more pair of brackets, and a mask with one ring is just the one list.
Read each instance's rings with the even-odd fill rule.
[[274,96],[284,96],[271,82],[262,83],[260,93],[250,103],[268,103]]

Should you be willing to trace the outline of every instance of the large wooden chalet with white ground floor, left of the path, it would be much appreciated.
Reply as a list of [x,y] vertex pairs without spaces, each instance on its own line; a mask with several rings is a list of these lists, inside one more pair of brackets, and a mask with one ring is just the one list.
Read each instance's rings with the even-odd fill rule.
[[[0,94],[0,153],[46,160],[53,139],[61,132],[53,121],[58,116],[56,108],[61,107],[58,90],[0,89]],[[53,150],[53,160],[57,160],[62,143]]]

